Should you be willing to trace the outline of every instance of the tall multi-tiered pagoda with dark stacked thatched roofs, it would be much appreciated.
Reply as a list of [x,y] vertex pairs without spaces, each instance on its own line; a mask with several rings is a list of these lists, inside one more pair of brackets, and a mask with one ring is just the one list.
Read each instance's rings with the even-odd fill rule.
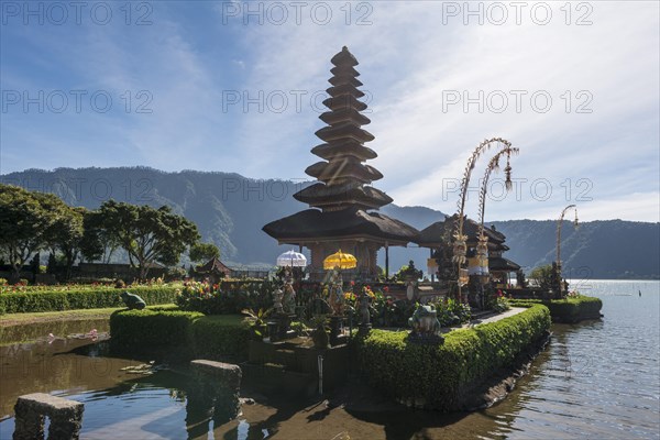
[[312,276],[322,272],[323,258],[339,249],[358,258],[356,272],[366,277],[377,275],[376,252],[381,248],[405,246],[418,231],[380,212],[370,212],[392,202],[392,198],[371,185],[383,175],[365,162],[377,154],[365,142],[374,136],[362,129],[371,121],[361,112],[366,105],[355,70],[358,61],[344,46],[331,59],[334,67],[323,101],[329,111],[319,118],[328,124],[316,132],[323,141],[311,152],[324,161],[307,167],[317,183],[296,193],[294,198],[311,209],[266,224],[263,230],[280,244],[311,250]]

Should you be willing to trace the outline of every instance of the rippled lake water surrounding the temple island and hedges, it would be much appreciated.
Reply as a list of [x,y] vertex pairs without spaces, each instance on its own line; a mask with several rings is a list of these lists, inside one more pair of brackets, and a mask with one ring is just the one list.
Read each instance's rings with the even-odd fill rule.
[[[94,345],[72,352],[89,341],[36,336],[22,344],[0,341],[0,438],[11,438],[16,397],[34,392],[84,402],[84,439],[660,438],[660,282],[575,282],[571,288],[602,298],[605,317],[553,324],[552,341],[530,374],[485,410],[440,415],[378,402],[355,410],[246,387],[242,394],[256,404],[244,405],[238,420],[213,427],[208,408],[190,403],[187,376],[130,375],[121,369],[139,362],[103,356]],[[79,326],[76,331],[90,330],[89,323]]]

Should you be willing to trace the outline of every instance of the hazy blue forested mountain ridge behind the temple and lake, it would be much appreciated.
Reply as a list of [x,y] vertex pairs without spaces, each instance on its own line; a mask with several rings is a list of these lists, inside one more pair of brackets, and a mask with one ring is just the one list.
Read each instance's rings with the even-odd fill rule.
[[[223,260],[240,264],[272,264],[290,249],[278,246],[261,229],[270,221],[307,206],[292,196],[309,182],[254,179],[237,173],[184,169],[164,172],[151,167],[31,168],[0,175],[0,182],[31,190],[54,193],[72,206],[98,208],[113,198],[136,205],[167,205],[195,221],[204,241],[216,243]],[[382,212],[419,230],[444,213],[428,207],[391,204]],[[595,220],[578,231],[566,222],[562,229],[564,275],[596,278],[660,278],[660,223]],[[505,220],[488,222],[507,237],[510,251],[504,256],[529,271],[554,260],[556,220]],[[653,245],[653,243],[656,245]],[[428,249],[391,248],[391,273],[409,260],[426,266]],[[384,262],[381,255],[378,261]]]

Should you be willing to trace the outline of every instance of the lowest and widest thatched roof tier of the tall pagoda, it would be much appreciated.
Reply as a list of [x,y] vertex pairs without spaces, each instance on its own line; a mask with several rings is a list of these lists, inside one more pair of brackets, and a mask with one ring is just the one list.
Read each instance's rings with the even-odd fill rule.
[[307,209],[273,221],[263,230],[284,243],[298,243],[306,239],[341,240],[364,237],[392,244],[406,244],[415,242],[419,234],[417,229],[380,212],[350,208],[338,211]]

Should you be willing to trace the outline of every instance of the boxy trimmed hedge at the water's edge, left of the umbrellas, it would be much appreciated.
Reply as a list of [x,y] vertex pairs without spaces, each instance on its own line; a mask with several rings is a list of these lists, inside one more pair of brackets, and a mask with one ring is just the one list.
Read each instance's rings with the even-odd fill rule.
[[173,308],[118,310],[110,316],[110,342],[120,352],[167,349],[182,360],[244,356],[250,326],[242,316],[205,316]]

